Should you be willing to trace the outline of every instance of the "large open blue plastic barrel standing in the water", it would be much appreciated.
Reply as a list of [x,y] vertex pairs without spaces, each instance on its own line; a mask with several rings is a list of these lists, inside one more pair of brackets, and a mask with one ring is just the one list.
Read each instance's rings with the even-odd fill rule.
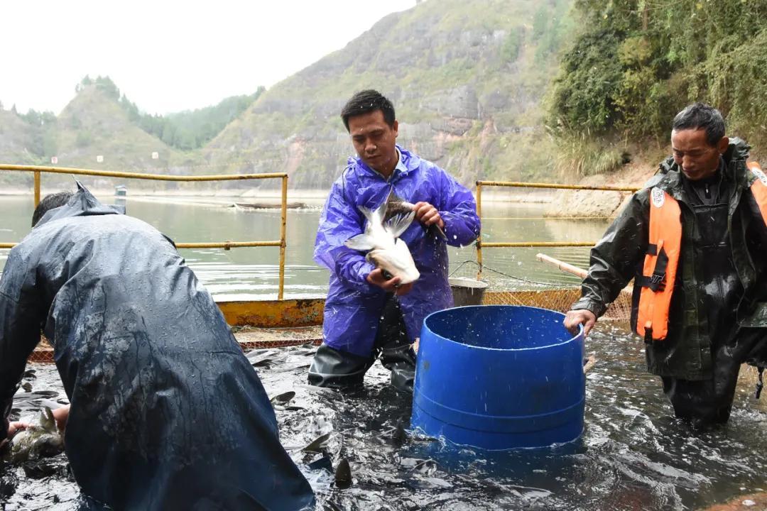
[[467,306],[427,316],[411,425],[461,445],[545,447],[583,432],[584,343],[565,316],[524,306]]

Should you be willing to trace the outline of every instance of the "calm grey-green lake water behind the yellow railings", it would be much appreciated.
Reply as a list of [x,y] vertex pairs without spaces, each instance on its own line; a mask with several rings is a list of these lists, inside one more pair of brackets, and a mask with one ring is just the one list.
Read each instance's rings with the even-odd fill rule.
[[[114,204],[114,198],[100,198]],[[302,199],[303,200],[303,199]],[[324,296],[328,271],[312,260],[314,236],[323,201],[306,201],[309,208],[288,210],[285,298]],[[21,241],[30,231],[31,196],[0,195],[0,242]],[[152,224],[176,242],[266,241],[279,238],[277,209],[244,210],[226,205],[196,205],[160,200],[127,200],[127,213]],[[542,219],[542,205],[490,202],[483,205],[484,241],[596,241],[607,220]],[[545,251],[580,267],[588,266],[588,248],[486,248],[483,278],[497,289],[529,287],[525,280],[576,285],[579,280],[542,264],[535,254]],[[274,299],[278,289],[279,251],[276,247],[182,250],[189,266],[216,300]],[[450,271],[476,274],[476,248],[449,247]],[[0,249],[0,270],[8,250]],[[494,271],[495,270],[495,271]],[[535,285],[535,284],[532,284]]]

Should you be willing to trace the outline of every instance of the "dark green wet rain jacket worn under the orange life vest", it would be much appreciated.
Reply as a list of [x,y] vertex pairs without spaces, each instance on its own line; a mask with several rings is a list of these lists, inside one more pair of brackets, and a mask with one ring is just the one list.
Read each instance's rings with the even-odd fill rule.
[[[590,268],[583,281],[581,300],[573,309],[591,310],[597,317],[635,276],[641,275],[647,251],[650,225],[650,190],[661,188],[680,203],[682,212],[682,250],[671,299],[667,339],[647,343],[647,369],[656,375],[689,380],[713,376],[712,352],[722,342],[737,347],[741,327],[767,327],[767,228],[750,191],[755,176],[746,168],[749,146],[730,139],[723,155],[726,180],[727,220],[722,233],[729,241],[731,264],[720,265],[716,257],[706,257],[700,221],[693,212],[683,177],[673,158],[660,164],[659,172],[635,193],[604,237],[591,249]],[[706,228],[710,228],[706,226]],[[720,266],[732,268],[716,283],[706,282],[706,274],[716,274]],[[723,270],[724,272],[728,270]],[[641,288],[634,287],[631,326],[636,331]],[[728,296],[723,322],[709,325],[706,304]],[[767,344],[765,339],[760,345]],[[739,362],[765,365],[763,346],[728,350]]]

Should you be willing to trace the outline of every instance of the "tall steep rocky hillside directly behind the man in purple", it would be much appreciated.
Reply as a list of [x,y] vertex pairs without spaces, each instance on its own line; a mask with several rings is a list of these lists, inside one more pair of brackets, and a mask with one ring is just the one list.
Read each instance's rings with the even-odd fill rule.
[[352,152],[338,114],[351,94],[390,97],[400,143],[463,182],[551,169],[542,93],[568,33],[569,0],[429,0],[275,85],[204,151],[227,172],[284,170],[327,188]]

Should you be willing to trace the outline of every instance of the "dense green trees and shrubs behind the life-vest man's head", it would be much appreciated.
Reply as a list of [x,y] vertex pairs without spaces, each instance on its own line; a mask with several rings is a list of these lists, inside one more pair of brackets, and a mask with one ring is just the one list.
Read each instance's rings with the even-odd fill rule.
[[665,147],[673,116],[695,101],[719,108],[729,133],[765,154],[767,0],[577,0],[575,9],[584,29],[549,107],[563,165],[604,172],[632,148]]

